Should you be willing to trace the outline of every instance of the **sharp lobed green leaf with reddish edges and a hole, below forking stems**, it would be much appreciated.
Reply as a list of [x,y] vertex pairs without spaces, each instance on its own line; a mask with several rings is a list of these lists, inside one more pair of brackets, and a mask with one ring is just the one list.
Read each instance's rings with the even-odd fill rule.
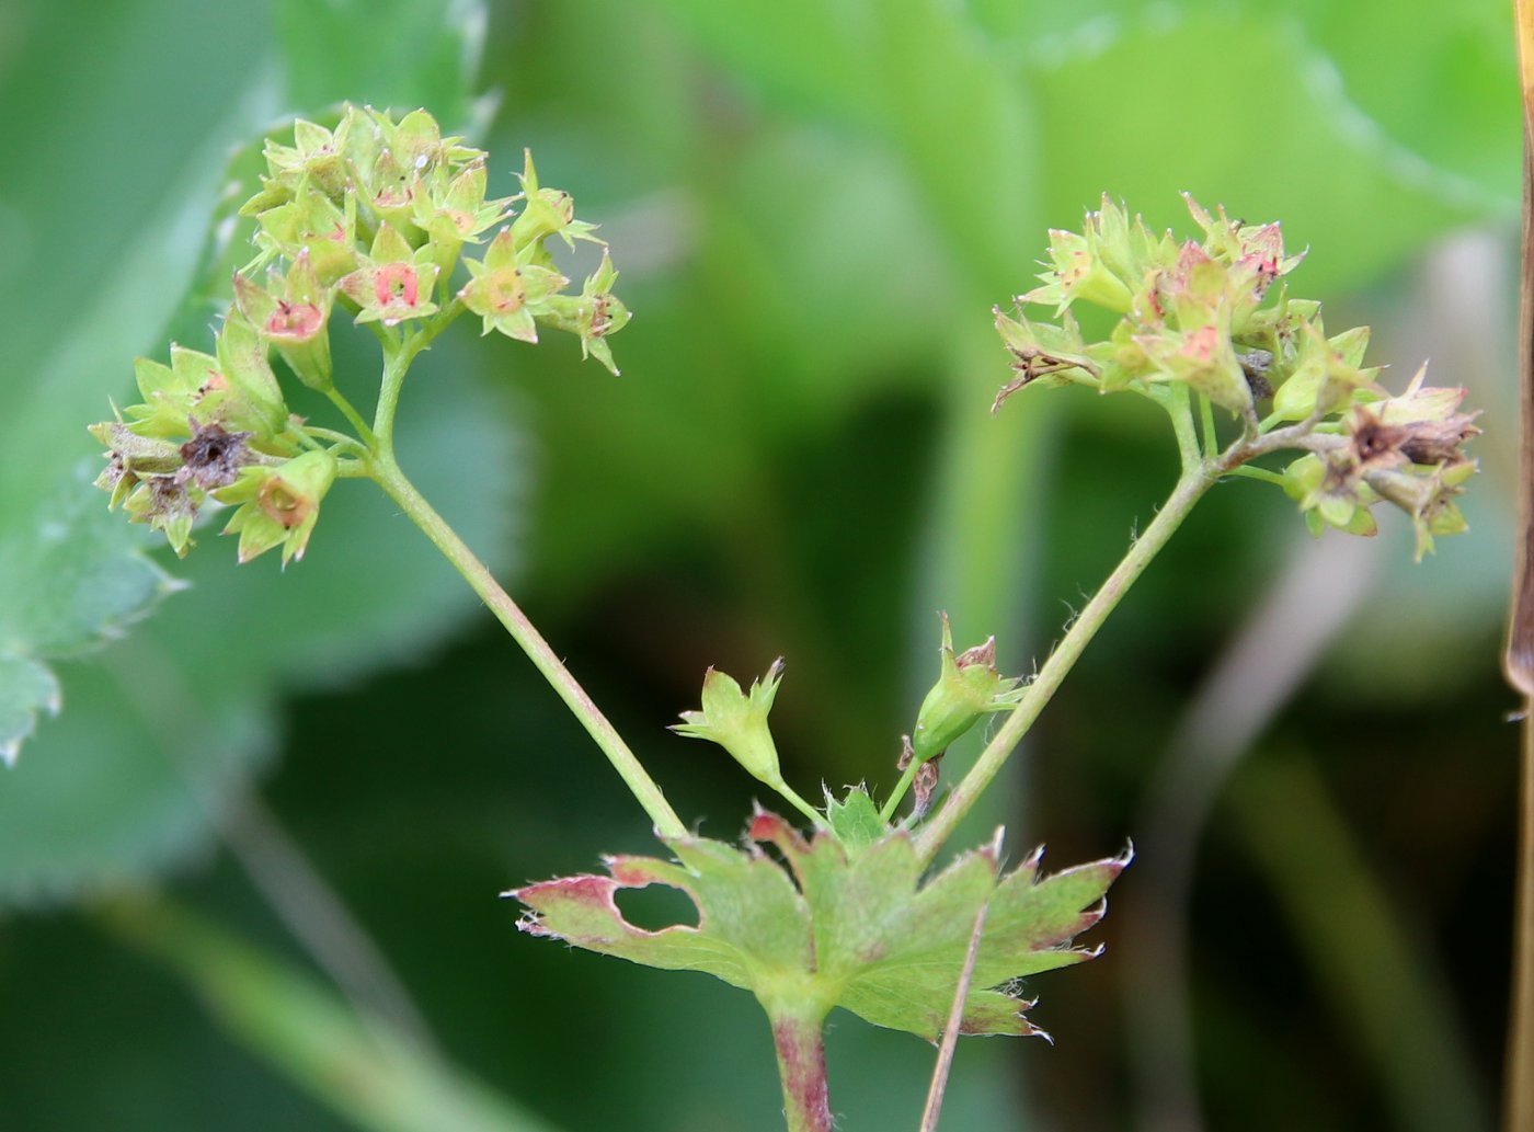
[[[534,936],[666,969],[707,971],[758,999],[796,995],[839,1005],[891,1029],[936,1040],[953,1003],[976,916],[986,902],[965,1034],[1037,1034],[1022,976],[1078,963],[1095,949],[1072,939],[1103,916],[1103,894],[1127,854],[1040,879],[1039,853],[999,877],[994,850],[977,850],[920,884],[922,864],[905,833],[856,856],[833,836],[801,837],[776,814],[752,821],[759,850],[676,837],[676,862],[612,857],[611,876],[574,876],[508,896],[531,911]],[[792,879],[790,879],[792,870]],[[646,931],[624,920],[615,894],[667,885],[698,908],[698,926]],[[788,988],[785,991],[785,988]]]

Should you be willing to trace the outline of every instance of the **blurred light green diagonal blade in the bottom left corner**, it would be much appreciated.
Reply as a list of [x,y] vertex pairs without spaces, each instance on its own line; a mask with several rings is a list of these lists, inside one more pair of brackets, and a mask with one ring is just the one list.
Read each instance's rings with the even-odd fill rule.
[[551,1132],[379,1018],[187,911],[150,902],[107,922],[186,979],[230,1035],[370,1132]]

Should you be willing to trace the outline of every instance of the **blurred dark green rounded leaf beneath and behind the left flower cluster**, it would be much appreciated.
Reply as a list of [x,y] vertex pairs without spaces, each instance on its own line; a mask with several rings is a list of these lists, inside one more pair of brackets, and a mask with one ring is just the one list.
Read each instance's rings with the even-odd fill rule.
[[[413,374],[431,396],[407,390],[400,460],[505,566],[515,437],[469,367],[437,356],[453,351],[439,342]],[[98,492],[87,503],[104,512]],[[69,710],[0,776],[0,903],[143,879],[206,844],[219,798],[270,750],[279,692],[419,660],[477,609],[367,482],[331,492],[308,554],[285,572],[236,566],[233,545],[207,528],[183,566],[190,587],[130,640],[72,666]]]

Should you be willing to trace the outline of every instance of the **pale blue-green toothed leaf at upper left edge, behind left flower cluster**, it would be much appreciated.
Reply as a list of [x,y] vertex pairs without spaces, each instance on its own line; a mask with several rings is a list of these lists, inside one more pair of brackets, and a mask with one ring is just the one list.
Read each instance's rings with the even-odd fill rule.
[[[195,11],[189,11],[195,9]],[[0,77],[0,92],[25,100],[29,129],[0,138],[0,160],[15,170],[0,189],[0,221],[20,225],[8,241],[14,270],[0,281],[0,302],[28,311],[14,321],[6,367],[12,400],[0,417],[6,494],[0,503],[0,656],[29,673],[31,695],[9,686],[0,750],[26,736],[32,713],[57,690],[41,664],[89,649],[147,612],[172,587],[141,554],[146,540],[121,515],[106,514],[104,495],[77,474],[98,463],[84,425],[106,413],[123,388],[146,328],[166,319],[206,224],[212,183],[225,140],[258,117],[262,43],[245,14],[209,20],[202,6],[160,3],[114,20],[77,21],[49,8],[21,9],[18,38],[48,51],[57,38],[92,58],[110,60],[72,86],[55,89],[57,72],[31,54]],[[209,40],[249,38],[256,63],[241,75],[213,66]],[[178,106],[166,89],[120,72],[150,44],[175,35],[189,63],[181,81],[210,84],[204,98]],[[34,67],[43,66],[43,74]],[[137,75],[135,75],[137,78]],[[133,144],[130,132],[86,115],[81,106],[112,103],[121,115],[156,121]],[[11,153],[28,146],[28,156]],[[87,169],[77,155],[87,149]],[[72,169],[74,176],[58,170]],[[109,206],[101,181],[110,170]],[[166,184],[175,184],[166,193]],[[60,222],[60,216],[69,222]],[[35,239],[34,233],[48,233]],[[87,270],[84,270],[87,268]],[[103,374],[120,374],[117,382]],[[89,454],[89,456],[87,456]],[[67,681],[66,681],[67,684]],[[74,701],[72,695],[64,699]],[[0,779],[0,795],[6,784]]]

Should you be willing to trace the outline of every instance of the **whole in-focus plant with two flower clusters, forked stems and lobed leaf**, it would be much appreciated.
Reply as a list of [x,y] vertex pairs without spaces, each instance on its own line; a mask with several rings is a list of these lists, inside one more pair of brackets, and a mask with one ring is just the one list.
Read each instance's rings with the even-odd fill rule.
[[[288,563],[310,546],[337,480],[377,483],[584,724],[666,848],[612,857],[601,876],[515,890],[522,926],[750,991],[772,1025],[792,1132],[831,1127],[821,1035],[833,1006],[940,1038],[946,1057],[957,1034],[1040,1032],[1017,980],[1095,954],[1074,940],[1101,917],[1127,854],[1048,876],[1037,851],[1008,867],[997,834],[942,868],[934,861],[1086,641],[1213,483],[1270,482],[1318,532],[1371,534],[1374,505],[1388,502],[1410,517],[1419,555],[1463,529],[1454,497],[1476,469],[1462,445],[1477,429],[1459,411],[1460,390],[1428,388],[1420,373],[1401,393],[1382,388],[1364,367],[1367,331],[1328,334],[1319,305],[1289,295],[1284,276],[1299,258],[1285,256],[1276,224],[1239,224],[1190,201],[1203,239],[1177,242],[1104,199],[1081,233],[1052,233],[1042,287],[1019,299],[1016,314],[997,313],[1016,376],[996,406],[1060,383],[1160,405],[1181,456],[1166,506],[1031,680],[999,673],[991,641],[957,650],[942,621],[937,680],[882,799],[859,785],[825,790],[816,805],[785,781],[769,721],[781,663],[749,689],[710,670],[700,710],[675,730],[723,747],[804,825],[758,810],[742,844],[696,837],[394,456],[411,364],[465,311],[486,334],[537,342],[543,330],[572,333],[617,373],[607,339],[629,314],[612,295],[606,245],[575,219],[566,193],[540,186],[531,158],[518,195],[488,199],[485,153],[442,137],[423,110],[394,121],[347,107],[333,130],[301,121],[291,144],[268,143],[265,156],[268,175],[244,207],[258,225],[256,255],[233,279],[212,353],[173,345],[169,364],[137,364],[143,400],[91,429],[109,449],[98,485],[176,554],[222,509],[241,561],[281,548]],[[549,255],[551,239],[601,245],[600,267],[578,290]],[[1106,337],[1083,336],[1078,304],[1117,318]],[[1026,305],[1046,318],[1028,318]],[[337,382],[333,371],[337,313],[370,327],[382,353],[371,419],[342,393],[362,376]],[[330,399],[334,428],[288,411],[291,382]],[[1278,454],[1281,466],[1266,466]],[[943,793],[943,753],[991,716],[997,726],[979,759]],[[644,885],[686,893],[696,926],[629,923],[615,894]],[[934,1100],[925,1127],[936,1112]]]

